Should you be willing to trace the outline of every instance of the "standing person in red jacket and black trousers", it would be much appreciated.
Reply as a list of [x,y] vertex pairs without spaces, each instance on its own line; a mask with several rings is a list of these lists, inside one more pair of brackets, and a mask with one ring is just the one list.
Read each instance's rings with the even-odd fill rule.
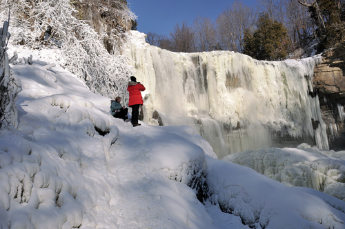
[[146,88],[140,82],[137,82],[135,77],[130,77],[130,82],[128,82],[127,90],[130,93],[130,98],[128,101],[128,106],[132,108],[132,125],[140,126],[138,123],[139,108],[143,105],[143,97],[141,97],[141,92]]

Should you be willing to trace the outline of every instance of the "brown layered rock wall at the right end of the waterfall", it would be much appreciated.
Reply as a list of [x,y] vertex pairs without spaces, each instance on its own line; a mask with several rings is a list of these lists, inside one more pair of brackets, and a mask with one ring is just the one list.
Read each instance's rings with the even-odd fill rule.
[[328,50],[315,68],[314,90],[319,96],[331,150],[345,150],[345,50]]

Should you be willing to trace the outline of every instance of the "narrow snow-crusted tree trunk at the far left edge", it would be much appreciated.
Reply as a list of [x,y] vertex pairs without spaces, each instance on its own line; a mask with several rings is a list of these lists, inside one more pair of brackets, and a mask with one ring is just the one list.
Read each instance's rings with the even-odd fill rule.
[[10,60],[6,52],[10,33],[8,32],[8,21],[0,28],[0,128],[10,125],[17,128],[18,115],[15,101],[18,93],[21,92],[21,81],[12,74],[9,63],[14,61],[17,55]]

